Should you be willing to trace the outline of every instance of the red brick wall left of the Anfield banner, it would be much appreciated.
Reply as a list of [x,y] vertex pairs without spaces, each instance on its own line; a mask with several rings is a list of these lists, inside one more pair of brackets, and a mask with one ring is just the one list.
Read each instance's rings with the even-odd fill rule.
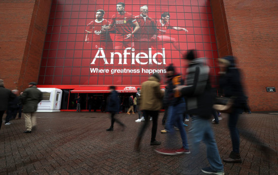
[[37,81],[52,1],[1,2],[0,78],[9,89]]

